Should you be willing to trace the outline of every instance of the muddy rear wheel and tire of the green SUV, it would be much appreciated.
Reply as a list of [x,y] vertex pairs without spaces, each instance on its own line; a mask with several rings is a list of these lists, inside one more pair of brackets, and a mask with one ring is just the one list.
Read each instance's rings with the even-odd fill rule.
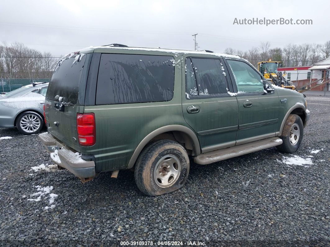
[[135,182],[148,196],[160,196],[184,185],[189,174],[189,157],[179,143],[158,140],[140,153],[134,169]]

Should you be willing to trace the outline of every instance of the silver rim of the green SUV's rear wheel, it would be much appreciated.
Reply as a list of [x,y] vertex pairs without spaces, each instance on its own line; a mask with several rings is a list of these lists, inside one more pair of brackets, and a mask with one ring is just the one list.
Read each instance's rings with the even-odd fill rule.
[[156,164],[153,172],[155,183],[161,188],[175,184],[181,173],[181,162],[175,155],[166,155]]

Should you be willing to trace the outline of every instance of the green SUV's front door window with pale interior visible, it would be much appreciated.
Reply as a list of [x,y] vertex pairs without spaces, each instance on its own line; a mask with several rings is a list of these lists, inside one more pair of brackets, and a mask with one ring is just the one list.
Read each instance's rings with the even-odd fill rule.
[[247,63],[236,60],[227,60],[232,70],[239,92],[263,92],[264,84],[261,76]]

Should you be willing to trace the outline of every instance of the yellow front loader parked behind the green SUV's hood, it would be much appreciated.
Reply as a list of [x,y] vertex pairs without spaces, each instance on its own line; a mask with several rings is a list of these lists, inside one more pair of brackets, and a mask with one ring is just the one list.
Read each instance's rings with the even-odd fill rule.
[[269,60],[258,63],[258,70],[265,79],[271,81],[274,85],[294,90],[296,87],[283,77],[281,71],[277,70],[279,67],[281,67],[281,62],[279,61]]

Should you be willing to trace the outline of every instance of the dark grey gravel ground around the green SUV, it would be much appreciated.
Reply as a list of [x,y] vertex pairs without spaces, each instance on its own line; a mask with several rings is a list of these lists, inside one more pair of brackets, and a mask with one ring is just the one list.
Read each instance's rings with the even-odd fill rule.
[[184,188],[159,197],[144,196],[130,170],[120,171],[118,179],[100,174],[85,184],[53,166],[31,170],[53,165],[49,153],[36,135],[2,128],[0,137],[12,139],[0,139],[0,245],[180,240],[329,246],[330,98],[308,97],[308,108],[311,119],[294,155],[312,165],[287,165],[283,156],[293,156],[276,148],[192,164]]

